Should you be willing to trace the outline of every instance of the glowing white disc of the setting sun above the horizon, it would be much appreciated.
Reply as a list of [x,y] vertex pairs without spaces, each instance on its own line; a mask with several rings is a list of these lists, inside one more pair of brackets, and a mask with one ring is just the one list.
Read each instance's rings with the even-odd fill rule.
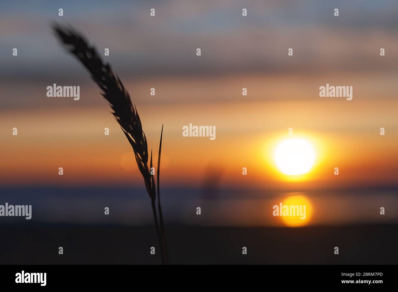
[[308,172],[315,161],[315,152],[308,141],[292,138],[281,142],[275,150],[275,163],[287,175]]

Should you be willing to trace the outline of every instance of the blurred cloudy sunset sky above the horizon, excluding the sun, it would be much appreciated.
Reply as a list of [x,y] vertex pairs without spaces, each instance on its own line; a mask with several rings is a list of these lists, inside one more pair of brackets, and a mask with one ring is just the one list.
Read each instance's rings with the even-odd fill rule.
[[[72,25],[101,54],[109,48],[104,58],[129,90],[156,154],[164,124],[164,185],[202,186],[209,177],[293,191],[397,185],[396,1],[0,5],[2,186],[142,185],[131,146],[88,72],[54,37],[54,21]],[[80,100],[47,97],[53,83],[80,86]],[[320,98],[326,83],[353,86],[353,100]],[[216,139],[182,137],[189,123],[215,125]],[[300,181],[278,174],[271,158],[288,128],[317,147],[315,167]]]

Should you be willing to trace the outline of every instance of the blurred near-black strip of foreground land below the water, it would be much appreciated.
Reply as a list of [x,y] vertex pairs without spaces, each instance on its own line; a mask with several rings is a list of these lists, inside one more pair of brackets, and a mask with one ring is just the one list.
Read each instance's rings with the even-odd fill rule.
[[[169,225],[166,232],[171,264],[398,264],[398,225]],[[0,225],[0,234],[0,264],[160,263],[153,226]]]

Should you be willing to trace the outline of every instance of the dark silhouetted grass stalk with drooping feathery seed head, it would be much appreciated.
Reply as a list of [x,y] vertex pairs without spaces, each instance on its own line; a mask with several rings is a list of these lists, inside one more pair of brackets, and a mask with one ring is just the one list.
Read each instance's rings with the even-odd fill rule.
[[162,209],[160,206],[160,154],[162,149],[163,125],[160,134],[160,145],[158,153],[158,169],[157,169],[157,197],[159,221],[156,211],[156,184],[154,175],[151,174],[152,168],[152,151],[150,155],[150,167],[148,168],[148,144],[146,136],[142,130],[142,124],[137,112],[137,108],[131,102],[130,95],[123,86],[123,83],[117,75],[113,73],[111,66],[103,63],[100,55],[94,46],[90,46],[86,39],[76,32],[74,29],[61,27],[58,24],[53,25],[53,29],[60,41],[66,46],[70,53],[82,62],[84,67],[90,72],[92,79],[101,89],[101,94],[109,102],[113,112],[113,116],[119,123],[120,128],[127,137],[134,151],[135,160],[144,178],[145,188],[151,199],[152,211],[155,220],[156,233],[158,236],[160,254],[162,263],[168,264],[168,253],[166,244],[166,231]]

